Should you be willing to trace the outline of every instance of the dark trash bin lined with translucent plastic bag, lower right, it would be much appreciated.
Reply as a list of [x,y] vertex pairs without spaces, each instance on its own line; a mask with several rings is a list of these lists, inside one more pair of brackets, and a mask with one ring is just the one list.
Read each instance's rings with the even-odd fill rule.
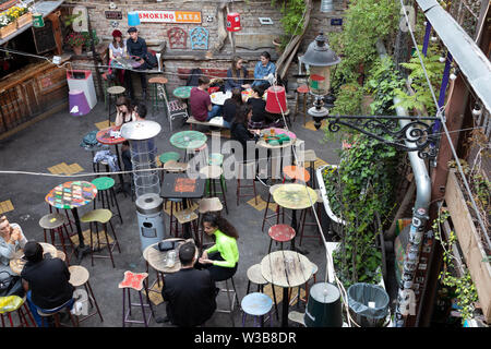
[[[350,314],[358,325],[361,327],[384,325],[388,314],[388,294],[382,287],[358,282],[351,285],[347,293]],[[374,302],[374,306],[369,306],[369,302]]]

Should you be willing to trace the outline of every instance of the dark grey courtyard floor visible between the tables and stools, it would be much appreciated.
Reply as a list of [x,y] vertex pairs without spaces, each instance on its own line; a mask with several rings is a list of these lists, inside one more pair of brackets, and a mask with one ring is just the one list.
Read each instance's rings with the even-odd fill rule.
[[[290,110],[295,110],[295,101],[289,100],[289,103],[294,104],[290,105]],[[152,116],[148,119],[152,119]],[[104,104],[101,103],[98,103],[89,115],[83,117],[72,117],[65,110],[41,120],[20,131],[10,139],[0,141],[0,169],[49,173],[49,167],[65,163],[68,165],[79,164],[83,168],[82,172],[91,172],[91,154],[81,148],[79,144],[87,132],[96,129],[95,123],[105,120],[107,120],[107,110],[105,110]],[[160,134],[156,139],[158,154],[167,151],[176,151],[169,143],[169,124],[164,113],[158,113],[155,120],[163,127]],[[302,118],[297,119],[291,131],[299,139],[306,141],[306,149],[314,149],[318,157],[322,160],[336,164],[336,149],[339,149],[339,144],[321,143],[324,135],[323,131],[308,130],[302,127],[301,120]],[[308,120],[311,120],[311,118],[309,117]],[[187,130],[188,127],[175,127],[173,131],[184,129]],[[89,176],[83,179],[91,181],[94,177]],[[0,185],[2,188],[0,203],[10,200],[14,206],[14,210],[5,214],[10,221],[19,222],[28,240],[43,241],[43,229],[39,227],[38,221],[40,217],[48,214],[48,204],[45,202],[45,196],[57,184],[72,179],[46,176],[0,174]],[[237,227],[240,234],[240,263],[235,280],[239,299],[241,299],[246,294],[248,284],[246,272],[251,265],[260,263],[263,256],[267,254],[270,238],[266,227],[264,229],[266,232],[261,231],[264,210],[258,210],[249,205],[247,201],[250,198],[242,198],[240,206],[237,207],[235,202],[236,181],[228,181],[227,185],[229,214],[227,215],[224,210],[224,216]],[[267,188],[259,184],[258,190],[261,197],[267,200]],[[109,260],[95,260],[95,265],[91,266],[89,256],[85,256],[81,263],[91,273],[89,281],[104,316],[104,322],[100,322],[98,316],[93,316],[86,322],[83,322],[81,326],[84,327],[120,327],[122,294],[118,288],[118,284],[122,280],[124,270],[145,270],[145,261],[140,251],[134,203],[129,196],[124,197],[122,193],[118,194],[118,201],[124,221],[121,225],[117,217],[113,219],[122,250],[121,254],[115,253],[116,268],[111,267]],[[79,209],[80,215],[82,216],[91,209],[92,205],[86,205]],[[167,226],[167,215],[165,215],[165,219]],[[322,221],[325,222],[325,217]],[[82,225],[82,229],[88,229],[88,226]],[[307,227],[306,229],[306,233],[313,231],[313,227]],[[326,229],[325,226],[324,229]],[[297,241],[297,245],[298,243]],[[273,249],[275,249],[274,245]],[[323,281],[325,274],[324,248],[316,239],[304,239],[301,249],[308,251],[307,257],[319,266],[318,281]],[[76,264],[75,258],[72,260],[72,264]],[[155,273],[152,269],[149,272],[149,278],[151,282],[155,280]],[[226,294],[221,293],[218,299],[218,306],[224,306],[226,301]],[[165,315],[165,303],[154,309],[156,310],[157,316]],[[300,311],[303,312],[303,310],[304,304],[302,303]],[[139,310],[135,310],[134,313],[139,314]],[[236,326],[240,326],[241,312],[236,309],[233,314]],[[296,326],[294,323],[290,323],[290,325]],[[141,325],[131,326],[140,327]],[[157,324],[152,320],[151,326],[166,327],[168,324]],[[206,323],[206,326],[231,326],[229,314],[215,313]],[[279,326],[276,318],[274,326]]]

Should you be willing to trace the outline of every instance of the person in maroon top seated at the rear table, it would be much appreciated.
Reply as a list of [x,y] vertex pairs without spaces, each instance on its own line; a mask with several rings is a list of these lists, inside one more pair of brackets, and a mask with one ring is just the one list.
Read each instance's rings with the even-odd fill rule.
[[197,121],[209,121],[221,112],[221,106],[213,106],[212,98],[207,93],[209,87],[209,79],[200,76],[197,79],[197,87],[193,87],[189,97],[191,115]]

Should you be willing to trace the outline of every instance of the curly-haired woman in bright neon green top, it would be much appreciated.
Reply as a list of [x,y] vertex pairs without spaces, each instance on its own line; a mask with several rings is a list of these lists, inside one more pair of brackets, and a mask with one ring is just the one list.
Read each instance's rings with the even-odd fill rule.
[[215,244],[203,251],[200,264],[209,270],[214,281],[232,277],[239,264],[239,234],[230,222],[211,213],[203,215],[203,230],[208,237],[215,236]]

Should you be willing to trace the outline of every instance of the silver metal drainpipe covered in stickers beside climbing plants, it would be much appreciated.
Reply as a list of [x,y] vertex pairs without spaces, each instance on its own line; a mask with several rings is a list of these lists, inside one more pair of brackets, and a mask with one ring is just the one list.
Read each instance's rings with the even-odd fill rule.
[[[379,41],[376,49],[381,58],[386,56],[384,45]],[[394,105],[400,100],[394,97]],[[397,116],[407,116],[407,110],[396,107]],[[408,124],[407,120],[399,120],[399,125],[404,128]],[[409,130],[410,131],[410,130]],[[412,146],[406,141],[407,146]],[[412,207],[412,221],[409,231],[409,242],[406,248],[406,257],[404,260],[403,276],[399,290],[397,292],[397,305],[395,312],[395,327],[404,327],[406,315],[416,315],[416,296],[412,290],[416,268],[419,262],[419,252],[421,241],[424,234],[424,228],[429,219],[428,207],[431,200],[431,180],[424,160],[416,152],[408,153],[412,172],[416,181],[416,203]]]

